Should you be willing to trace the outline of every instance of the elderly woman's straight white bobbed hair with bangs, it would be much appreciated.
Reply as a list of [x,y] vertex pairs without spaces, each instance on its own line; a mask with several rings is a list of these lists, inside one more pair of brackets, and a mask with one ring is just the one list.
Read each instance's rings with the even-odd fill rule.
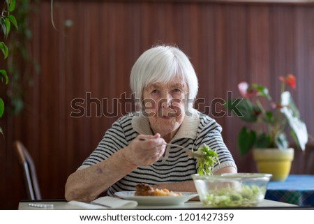
[[188,85],[188,105],[193,105],[198,82],[190,60],[178,47],[158,45],[145,51],[135,62],[130,73],[130,88],[142,102],[145,87],[155,82],[167,83],[175,77],[181,77]]

